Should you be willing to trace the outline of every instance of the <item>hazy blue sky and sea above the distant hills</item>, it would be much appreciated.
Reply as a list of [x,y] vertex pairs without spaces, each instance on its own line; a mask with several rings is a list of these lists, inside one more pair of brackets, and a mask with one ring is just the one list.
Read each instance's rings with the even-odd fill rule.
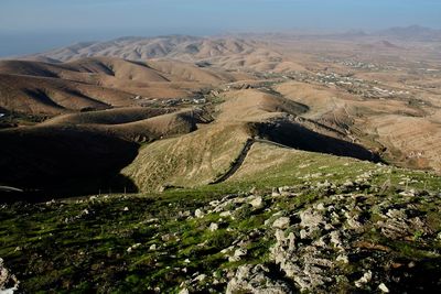
[[0,0],[0,56],[129,35],[412,24],[441,29],[441,0]]

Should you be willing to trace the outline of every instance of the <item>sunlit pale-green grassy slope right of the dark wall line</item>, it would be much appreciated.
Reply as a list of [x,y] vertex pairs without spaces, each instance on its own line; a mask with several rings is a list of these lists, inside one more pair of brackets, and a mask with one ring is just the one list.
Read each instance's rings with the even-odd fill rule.
[[[375,171],[378,165],[352,157],[330,156],[320,153],[281,149],[267,143],[255,143],[243,166],[228,183],[247,183],[248,186],[292,185],[327,178],[335,183],[352,181],[354,174]],[[439,177],[422,171],[390,167],[374,177],[374,184],[404,185],[404,177],[412,177],[418,188],[441,187]],[[400,184],[401,183],[401,184]]]

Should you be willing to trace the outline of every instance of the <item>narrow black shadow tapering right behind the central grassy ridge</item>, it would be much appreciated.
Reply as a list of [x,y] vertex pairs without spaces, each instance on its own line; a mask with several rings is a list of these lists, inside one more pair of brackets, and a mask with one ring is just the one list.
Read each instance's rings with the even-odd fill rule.
[[257,123],[255,128],[259,137],[298,150],[383,162],[378,154],[362,145],[316,133],[291,121]]

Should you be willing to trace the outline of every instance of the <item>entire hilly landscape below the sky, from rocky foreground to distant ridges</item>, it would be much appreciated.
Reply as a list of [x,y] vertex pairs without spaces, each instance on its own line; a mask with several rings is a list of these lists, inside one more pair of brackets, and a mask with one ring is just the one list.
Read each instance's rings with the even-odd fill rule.
[[259,39],[0,61],[0,292],[435,293],[437,44]]

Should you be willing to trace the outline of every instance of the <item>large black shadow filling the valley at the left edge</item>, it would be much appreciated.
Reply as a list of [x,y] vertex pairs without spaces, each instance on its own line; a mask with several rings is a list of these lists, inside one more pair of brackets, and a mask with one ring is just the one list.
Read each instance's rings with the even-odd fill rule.
[[138,154],[138,144],[75,127],[0,131],[0,185],[24,193],[1,193],[0,200],[133,193],[120,174]]

